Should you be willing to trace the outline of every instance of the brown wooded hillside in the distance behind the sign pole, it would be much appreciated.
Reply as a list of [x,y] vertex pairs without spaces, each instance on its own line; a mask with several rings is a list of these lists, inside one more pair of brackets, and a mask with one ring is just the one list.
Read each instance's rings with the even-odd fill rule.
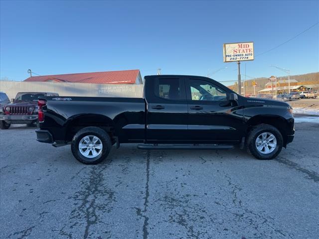
[[[242,76],[242,80],[243,80],[244,76]],[[257,82],[257,86],[256,86],[256,94],[258,93],[258,91],[265,89],[265,85],[268,83],[268,77],[261,77],[261,78],[256,78],[256,79],[249,79],[247,80],[247,87],[246,87],[246,92],[247,93],[253,93],[254,92],[254,88],[252,87],[252,81],[256,81]],[[283,76],[283,77],[278,77],[278,80],[286,80],[288,82],[288,76]],[[298,82],[305,82],[305,81],[315,81],[317,84],[319,84],[319,72],[315,72],[315,73],[308,73],[308,74],[304,74],[304,75],[293,75],[290,76],[290,79],[295,79]],[[235,87],[235,85],[231,85],[228,86],[230,89],[237,91],[237,86]]]

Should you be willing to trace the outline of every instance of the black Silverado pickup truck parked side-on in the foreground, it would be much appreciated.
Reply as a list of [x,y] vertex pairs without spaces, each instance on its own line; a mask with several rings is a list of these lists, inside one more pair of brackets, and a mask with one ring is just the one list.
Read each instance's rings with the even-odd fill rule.
[[143,98],[39,97],[38,106],[37,140],[71,144],[85,164],[101,162],[121,143],[141,143],[141,149],[237,145],[272,159],[295,133],[289,104],[245,98],[199,76],[146,76]]

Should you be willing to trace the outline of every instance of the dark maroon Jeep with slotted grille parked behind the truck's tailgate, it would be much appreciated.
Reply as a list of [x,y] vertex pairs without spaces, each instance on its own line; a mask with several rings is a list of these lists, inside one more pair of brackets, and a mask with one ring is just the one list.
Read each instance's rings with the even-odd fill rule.
[[41,96],[59,96],[47,92],[19,92],[12,103],[8,102],[0,112],[0,128],[7,129],[11,123],[26,123],[35,126],[38,119],[37,100]]

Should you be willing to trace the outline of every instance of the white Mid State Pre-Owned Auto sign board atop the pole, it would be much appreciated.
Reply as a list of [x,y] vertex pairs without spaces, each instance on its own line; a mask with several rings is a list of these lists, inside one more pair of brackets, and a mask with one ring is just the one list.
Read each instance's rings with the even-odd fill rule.
[[225,43],[224,62],[254,60],[254,42]]

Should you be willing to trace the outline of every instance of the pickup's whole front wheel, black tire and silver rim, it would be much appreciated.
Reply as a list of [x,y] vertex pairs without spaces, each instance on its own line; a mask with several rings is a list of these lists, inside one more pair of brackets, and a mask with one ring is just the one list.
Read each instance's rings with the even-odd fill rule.
[[280,131],[269,124],[259,124],[250,131],[247,139],[248,151],[257,159],[273,159],[283,147]]

